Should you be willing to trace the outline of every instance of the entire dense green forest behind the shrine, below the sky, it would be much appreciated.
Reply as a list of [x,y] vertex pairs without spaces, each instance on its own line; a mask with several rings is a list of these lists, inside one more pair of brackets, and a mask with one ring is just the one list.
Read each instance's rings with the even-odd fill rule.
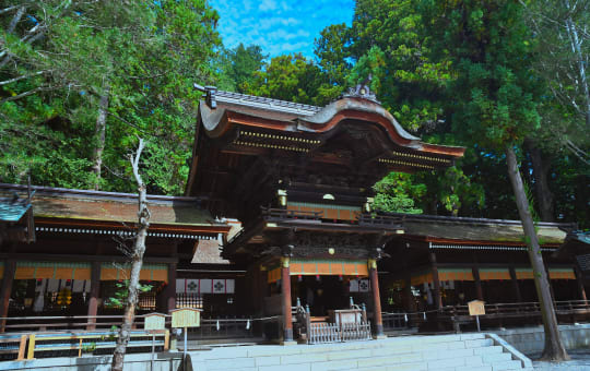
[[373,75],[411,133],[468,147],[456,166],[391,173],[384,211],[518,218],[505,151],[539,219],[590,226],[590,1],[357,0],[316,57],[225,48],[204,0],[7,0],[0,8],[1,182],[181,194],[192,83],[326,105]]

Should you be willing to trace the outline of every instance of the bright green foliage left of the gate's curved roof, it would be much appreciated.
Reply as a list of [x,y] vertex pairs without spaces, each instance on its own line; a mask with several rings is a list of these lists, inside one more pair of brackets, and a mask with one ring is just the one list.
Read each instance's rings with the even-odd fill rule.
[[[0,14],[8,55],[0,81],[15,80],[0,85],[0,166],[9,169],[0,181],[22,182],[31,172],[37,184],[92,187],[94,127],[106,95],[101,188],[133,190],[126,156],[140,134],[150,143],[149,191],[182,193],[200,96],[192,83],[215,73],[217,13],[204,0],[12,4],[26,11],[12,32],[15,12]],[[27,38],[35,29],[43,37]]]

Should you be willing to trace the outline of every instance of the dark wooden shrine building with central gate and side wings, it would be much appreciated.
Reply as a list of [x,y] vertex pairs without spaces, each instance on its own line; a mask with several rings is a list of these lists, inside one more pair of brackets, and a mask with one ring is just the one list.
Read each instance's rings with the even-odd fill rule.
[[[148,199],[140,313],[274,319],[267,338],[309,343],[310,323],[342,315],[380,337],[448,330],[449,313],[474,299],[538,301],[519,220],[373,210],[373,185],[390,171],[444,169],[464,148],[408,133],[368,86],[326,107],[196,87],[204,99],[186,193]],[[95,316],[121,313],[107,299],[127,277],[137,195],[0,184],[0,196],[2,331],[19,330],[14,316],[88,315],[92,330]],[[554,300],[586,302],[590,265],[559,250],[577,226],[538,229]]]

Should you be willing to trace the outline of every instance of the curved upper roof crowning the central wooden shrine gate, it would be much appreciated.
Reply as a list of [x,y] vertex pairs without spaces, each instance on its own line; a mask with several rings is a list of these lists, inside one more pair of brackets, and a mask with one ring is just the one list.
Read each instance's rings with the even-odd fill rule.
[[[211,99],[214,99],[212,104]],[[381,128],[396,147],[424,154],[461,157],[464,147],[428,144],[406,132],[396,118],[378,103],[363,96],[344,96],[326,107],[256,97],[229,92],[208,91],[201,101],[200,122],[209,137],[223,136],[235,125],[258,128],[273,132],[321,135],[335,130],[343,122],[355,120]]]

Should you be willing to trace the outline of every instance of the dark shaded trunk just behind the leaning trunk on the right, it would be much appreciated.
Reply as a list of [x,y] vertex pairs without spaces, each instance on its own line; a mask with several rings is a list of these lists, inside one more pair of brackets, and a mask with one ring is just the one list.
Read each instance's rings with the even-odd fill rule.
[[555,222],[553,193],[548,187],[548,171],[551,170],[551,163],[547,157],[543,156],[543,153],[536,144],[532,141],[524,142],[529,155],[531,155],[531,163],[533,166],[534,190],[536,191],[536,201],[539,202],[539,212],[541,214],[541,220]]

